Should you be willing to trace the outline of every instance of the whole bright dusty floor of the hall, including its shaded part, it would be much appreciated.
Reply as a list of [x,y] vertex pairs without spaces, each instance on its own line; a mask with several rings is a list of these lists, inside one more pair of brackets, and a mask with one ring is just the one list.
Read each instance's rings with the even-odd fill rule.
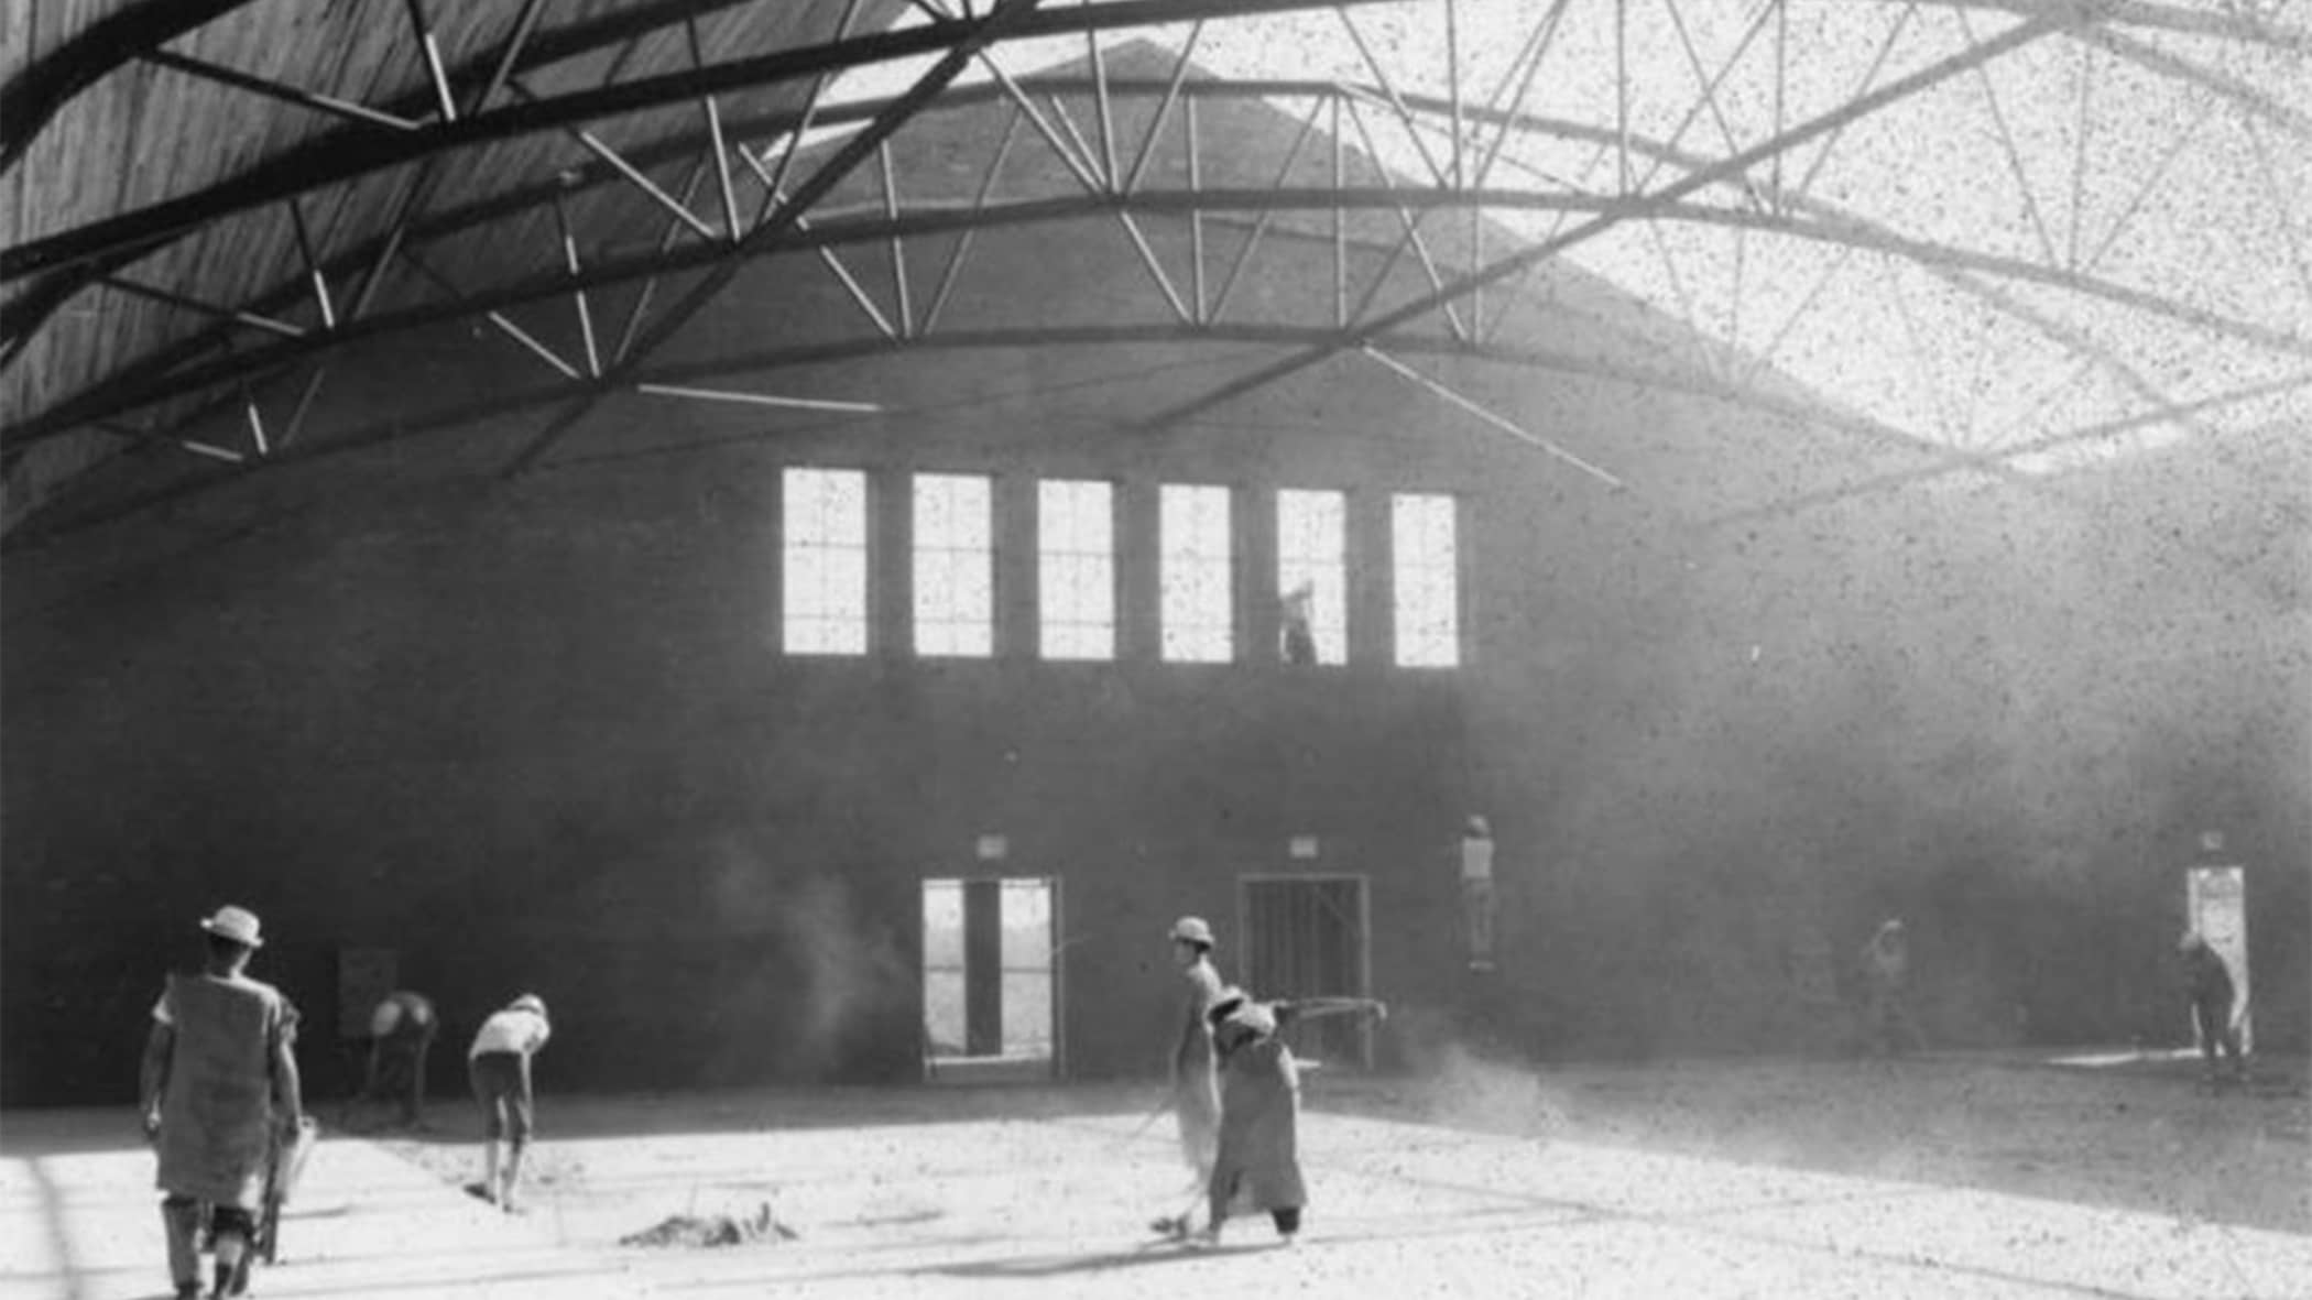
[[[467,1198],[469,1110],[324,1140],[261,1295],[2312,1295],[2305,1071],[1993,1059],[1318,1073],[1309,1228],[1221,1251],[1147,1087],[587,1099],[546,1083],[523,1217]],[[109,1113],[9,1115],[0,1293],[160,1295],[150,1157]],[[673,1214],[791,1240],[645,1249]]]

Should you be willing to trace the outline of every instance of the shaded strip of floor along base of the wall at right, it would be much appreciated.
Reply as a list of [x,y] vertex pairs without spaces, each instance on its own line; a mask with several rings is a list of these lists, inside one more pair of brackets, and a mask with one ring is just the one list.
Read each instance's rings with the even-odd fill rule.
[[2208,1096],[2189,1059],[1704,1062],[1531,1080],[1468,1062],[1348,1106],[1491,1131],[1531,1131],[1517,1117],[1537,1108],[1588,1143],[2312,1233],[2305,1076],[2300,1059],[2266,1059],[2243,1094]]

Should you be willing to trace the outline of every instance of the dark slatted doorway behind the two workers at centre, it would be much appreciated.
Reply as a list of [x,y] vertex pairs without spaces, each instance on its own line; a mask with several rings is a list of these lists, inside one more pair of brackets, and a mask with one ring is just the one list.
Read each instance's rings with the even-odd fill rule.
[[[1364,997],[1371,914],[1364,877],[1237,877],[1244,976],[1253,997]],[[1364,1015],[1311,1020],[1292,1052],[1329,1066],[1371,1069],[1373,1029]]]

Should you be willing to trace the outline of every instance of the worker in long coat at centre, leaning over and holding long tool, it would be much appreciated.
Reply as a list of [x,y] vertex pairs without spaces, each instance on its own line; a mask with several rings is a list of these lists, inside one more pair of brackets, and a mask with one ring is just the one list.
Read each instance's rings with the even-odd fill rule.
[[1265,1210],[1279,1240],[1292,1244],[1309,1189],[1299,1170],[1299,1064],[1283,1034],[1302,1020],[1353,1013],[1385,1020],[1390,1009],[1371,997],[1253,1002],[1242,990],[1214,1002],[1207,1018],[1221,1073],[1221,1150],[1207,1184],[1207,1244],[1218,1244],[1239,1203]]

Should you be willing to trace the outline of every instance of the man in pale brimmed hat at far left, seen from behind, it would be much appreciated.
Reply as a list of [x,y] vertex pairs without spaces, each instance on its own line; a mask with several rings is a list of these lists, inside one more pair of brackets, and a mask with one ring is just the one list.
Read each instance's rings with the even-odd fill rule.
[[162,988],[139,1080],[139,1115],[160,1154],[155,1184],[169,1277],[180,1300],[201,1293],[203,1205],[217,1254],[210,1293],[247,1288],[273,1136],[296,1133],[305,1117],[296,1009],[245,974],[264,946],[257,916],[220,907],[201,930],[208,932],[201,974],[171,974]]

